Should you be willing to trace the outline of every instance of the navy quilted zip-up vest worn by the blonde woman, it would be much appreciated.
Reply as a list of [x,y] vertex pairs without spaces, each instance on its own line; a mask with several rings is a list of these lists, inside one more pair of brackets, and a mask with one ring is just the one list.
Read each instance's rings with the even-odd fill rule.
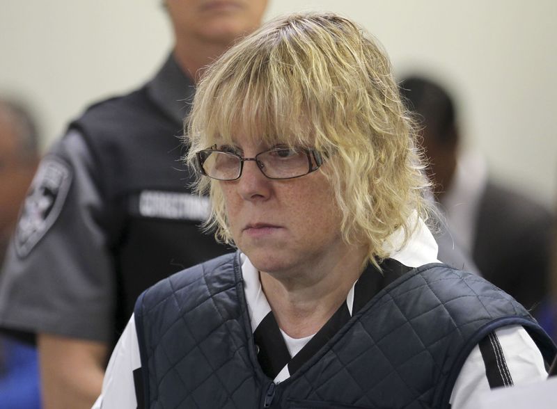
[[389,284],[276,387],[257,361],[237,254],[159,282],[135,314],[149,408],[448,408],[464,360],[495,328],[521,324],[555,354],[524,307],[444,264]]

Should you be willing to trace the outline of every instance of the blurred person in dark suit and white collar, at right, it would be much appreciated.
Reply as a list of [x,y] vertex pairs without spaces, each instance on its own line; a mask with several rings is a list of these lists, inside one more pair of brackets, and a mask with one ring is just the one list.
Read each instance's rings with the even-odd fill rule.
[[461,149],[457,111],[444,87],[408,76],[400,90],[423,126],[427,172],[455,243],[484,278],[537,314],[549,289],[551,214],[495,182],[483,158]]

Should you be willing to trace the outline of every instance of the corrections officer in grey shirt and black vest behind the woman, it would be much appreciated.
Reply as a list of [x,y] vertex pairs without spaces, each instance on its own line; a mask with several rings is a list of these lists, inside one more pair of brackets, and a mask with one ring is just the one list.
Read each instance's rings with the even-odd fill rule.
[[45,408],[90,408],[108,353],[151,284],[226,251],[198,225],[179,136],[205,66],[267,0],[166,0],[175,44],[155,77],[91,106],[48,152],[0,282],[0,326],[40,355]]

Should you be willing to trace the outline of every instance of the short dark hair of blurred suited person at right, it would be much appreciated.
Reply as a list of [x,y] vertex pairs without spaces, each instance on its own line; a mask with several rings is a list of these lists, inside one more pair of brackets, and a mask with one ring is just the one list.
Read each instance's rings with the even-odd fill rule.
[[411,76],[400,82],[400,94],[409,111],[418,114],[418,122],[436,143],[456,142],[455,106],[448,92],[438,83]]

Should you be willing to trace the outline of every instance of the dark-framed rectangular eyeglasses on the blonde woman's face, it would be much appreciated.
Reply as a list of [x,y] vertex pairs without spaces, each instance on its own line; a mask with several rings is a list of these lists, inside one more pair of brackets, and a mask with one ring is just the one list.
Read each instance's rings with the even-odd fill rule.
[[255,161],[269,179],[293,179],[315,172],[323,163],[319,152],[299,147],[275,147],[244,158],[234,152],[205,149],[196,153],[203,175],[218,180],[236,180],[242,176],[244,162]]

